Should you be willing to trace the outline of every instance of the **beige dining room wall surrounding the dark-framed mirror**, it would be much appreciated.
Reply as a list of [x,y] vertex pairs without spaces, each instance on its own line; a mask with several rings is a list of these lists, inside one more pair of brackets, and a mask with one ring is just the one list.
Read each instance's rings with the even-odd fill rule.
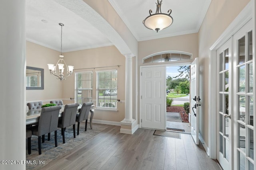
[[44,69],[44,90],[26,90],[26,102],[62,98],[62,84],[51,76],[47,64],[56,64],[60,52],[26,41],[26,66]]

